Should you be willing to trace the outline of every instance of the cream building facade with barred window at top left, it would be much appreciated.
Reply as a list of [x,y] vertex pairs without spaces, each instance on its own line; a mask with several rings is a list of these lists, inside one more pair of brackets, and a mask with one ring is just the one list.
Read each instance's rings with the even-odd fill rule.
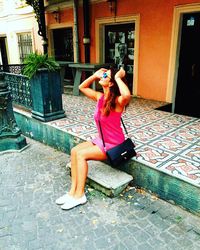
[[31,6],[20,0],[0,1],[0,64],[21,64],[33,51],[42,52],[42,40]]

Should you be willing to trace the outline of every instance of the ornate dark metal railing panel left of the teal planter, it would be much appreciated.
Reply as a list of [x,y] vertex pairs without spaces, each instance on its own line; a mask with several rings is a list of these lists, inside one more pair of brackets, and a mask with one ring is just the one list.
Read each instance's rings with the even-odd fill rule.
[[8,84],[13,103],[31,110],[32,97],[30,80],[23,75],[5,73],[5,82]]

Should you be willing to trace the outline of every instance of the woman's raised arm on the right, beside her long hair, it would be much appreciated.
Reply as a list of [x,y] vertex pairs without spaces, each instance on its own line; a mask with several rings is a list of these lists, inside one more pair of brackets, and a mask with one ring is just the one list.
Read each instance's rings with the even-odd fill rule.
[[126,106],[131,98],[131,93],[128,86],[123,82],[123,78],[126,72],[124,69],[120,68],[120,70],[115,74],[115,81],[119,87],[120,96],[117,98],[117,102],[121,106]]

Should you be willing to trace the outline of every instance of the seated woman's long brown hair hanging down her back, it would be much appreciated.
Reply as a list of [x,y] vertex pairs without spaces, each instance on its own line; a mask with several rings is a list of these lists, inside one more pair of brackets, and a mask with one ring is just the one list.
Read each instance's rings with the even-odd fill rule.
[[[105,116],[108,116],[110,114],[110,111],[115,109],[116,97],[120,96],[119,87],[115,81],[115,74],[117,73],[118,69],[110,68],[110,71],[111,71],[110,81],[113,83],[113,85],[110,87],[109,95],[104,101],[103,115]],[[126,83],[126,79],[123,79],[123,81]]]

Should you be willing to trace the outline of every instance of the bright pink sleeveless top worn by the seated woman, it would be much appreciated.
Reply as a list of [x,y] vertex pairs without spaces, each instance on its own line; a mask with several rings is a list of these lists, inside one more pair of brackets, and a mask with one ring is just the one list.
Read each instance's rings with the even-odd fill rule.
[[103,138],[106,145],[106,150],[122,143],[125,140],[123,129],[121,127],[121,115],[122,112],[111,111],[108,116],[101,114],[101,108],[104,104],[104,95],[98,100],[94,119],[96,122],[98,137],[92,140],[94,144],[99,146],[103,152],[105,152],[103,147],[103,141],[101,138],[101,132],[99,128],[99,119],[101,123],[101,128],[103,132]]

